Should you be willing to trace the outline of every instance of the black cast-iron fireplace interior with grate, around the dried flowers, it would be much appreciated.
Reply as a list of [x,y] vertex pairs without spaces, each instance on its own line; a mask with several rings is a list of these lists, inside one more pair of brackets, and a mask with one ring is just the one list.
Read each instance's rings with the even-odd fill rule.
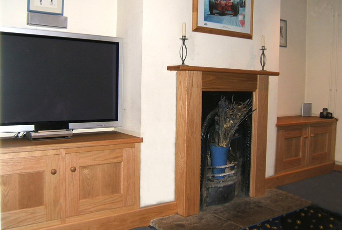
[[201,189],[200,209],[205,206],[222,205],[235,196],[249,196],[251,167],[252,117],[244,119],[235,131],[230,142],[228,167],[225,176],[214,177],[211,168],[208,136],[209,130],[215,126],[218,102],[221,97],[232,102],[245,102],[252,99],[253,92],[202,92],[202,131],[201,131]]

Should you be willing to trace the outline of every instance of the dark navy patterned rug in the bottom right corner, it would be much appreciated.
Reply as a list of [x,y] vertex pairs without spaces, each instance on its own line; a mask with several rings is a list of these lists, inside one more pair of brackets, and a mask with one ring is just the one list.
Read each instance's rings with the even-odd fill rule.
[[342,215],[310,205],[243,230],[342,230]]

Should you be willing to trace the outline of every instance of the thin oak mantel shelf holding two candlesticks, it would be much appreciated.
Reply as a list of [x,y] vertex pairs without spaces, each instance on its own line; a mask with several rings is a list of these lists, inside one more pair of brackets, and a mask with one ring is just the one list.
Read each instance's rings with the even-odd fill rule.
[[266,71],[266,70],[228,69],[228,68],[202,67],[202,66],[191,66],[191,65],[171,65],[171,66],[167,66],[167,70],[170,70],[170,71],[219,72],[219,73],[242,73],[242,74],[279,76],[279,72]]

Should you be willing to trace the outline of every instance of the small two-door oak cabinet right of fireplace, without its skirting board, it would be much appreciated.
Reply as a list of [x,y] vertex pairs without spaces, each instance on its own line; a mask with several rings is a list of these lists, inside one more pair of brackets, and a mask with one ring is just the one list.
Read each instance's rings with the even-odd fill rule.
[[334,161],[335,141],[336,119],[278,117],[276,174]]

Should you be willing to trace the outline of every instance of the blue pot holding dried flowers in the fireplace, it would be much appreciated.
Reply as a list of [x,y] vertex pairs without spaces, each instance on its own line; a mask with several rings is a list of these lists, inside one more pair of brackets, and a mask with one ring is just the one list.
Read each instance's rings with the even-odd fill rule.
[[[227,165],[227,158],[229,153],[229,145],[226,147],[209,145],[211,166]],[[224,173],[226,168],[213,169],[213,174]],[[222,179],[223,176],[216,176],[216,179]]]

